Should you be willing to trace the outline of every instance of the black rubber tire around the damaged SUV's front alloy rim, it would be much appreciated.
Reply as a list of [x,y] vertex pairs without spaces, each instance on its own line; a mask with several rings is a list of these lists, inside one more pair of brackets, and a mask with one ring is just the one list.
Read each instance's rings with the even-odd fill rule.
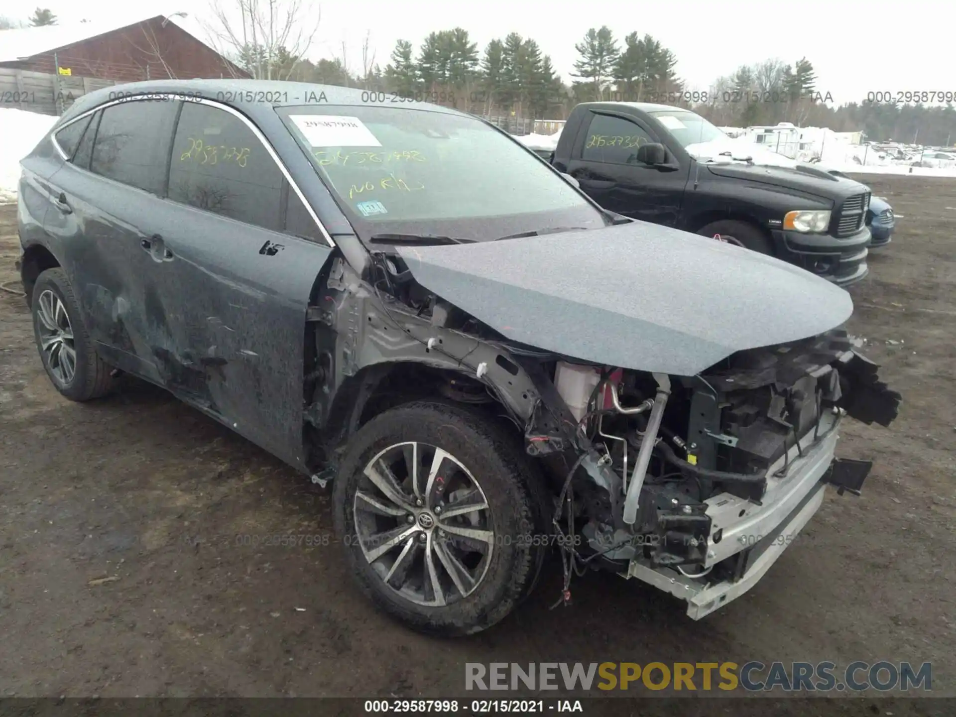
[[[394,530],[405,527],[402,521],[413,520],[414,522],[407,526],[407,530],[418,531],[412,535],[415,538],[411,541],[412,545],[403,548],[408,538],[402,538],[402,542],[396,542],[395,547],[388,553],[375,559],[379,571],[366,558],[359,544],[360,533],[357,530],[359,511],[356,506],[362,501],[356,498],[356,494],[359,489],[363,494],[376,490],[367,478],[365,468],[382,451],[389,449],[389,446],[406,442],[415,442],[421,446],[416,448],[420,452],[416,452],[418,460],[413,462],[420,466],[427,463],[427,451],[430,446],[442,448],[453,456],[462,467],[467,469],[467,474],[460,472],[459,475],[467,475],[467,478],[479,487],[484,502],[488,506],[488,511],[483,511],[483,517],[487,519],[487,522],[482,523],[481,526],[490,529],[493,540],[490,541],[489,554],[482,555],[480,558],[482,562],[478,567],[484,564],[486,566],[484,573],[470,592],[463,593],[458,589],[457,583],[452,582],[451,573],[442,564],[445,557],[439,554],[438,549],[430,553],[442,558],[442,561],[434,562],[438,568],[435,573],[440,574],[440,582],[449,589],[450,597],[443,595],[445,604],[441,605],[421,604],[412,598],[400,595],[396,588],[385,584],[385,576],[381,571],[384,571],[386,566],[378,561],[392,562],[392,556],[396,556],[395,562],[392,563],[392,569],[394,569],[399,556],[404,555],[405,550],[409,555],[415,552],[415,557],[409,560],[418,560],[421,556],[423,561],[421,573],[415,572],[418,569],[416,563],[409,562],[409,565],[413,567],[402,571],[409,577],[404,581],[406,584],[400,587],[402,590],[408,590],[407,583],[411,582],[412,590],[414,590],[414,583],[421,580],[423,595],[425,595],[425,582],[429,574],[424,564],[424,555],[432,551],[433,543],[438,544],[443,552],[449,545],[454,547],[458,539],[450,532],[443,532],[441,529],[450,531],[449,521],[461,520],[461,516],[447,518],[438,512],[430,513],[424,510],[431,508],[433,503],[422,490],[424,509],[414,509],[414,511],[429,512],[436,521],[434,527],[428,529],[426,542],[416,544],[416,541],[422,540],[421,534],[426,531],[419,526],[420,521],[414,516],[404,515],[403,517],[375,516],[372,518],[373,521],[384,523],[385,528],[382,530],[388,530],[393,525],[389,522],[390,520],[395,521]],[[394,451],[395,448],[391,450]],[[386,453],[387,455],[390,454]],[[425,457],[422,458],[422,455]],[[397,470],[393,470],[391,475],[402,483],[400,486],[402,497],[406,497],[413,503],[415,493],[409,488],[410,481],[407,479],[410,470],[406,468],[402,472],[402,467],[408,465],[407,461],[406,457],[404,463],[400,459],[399,463],[394,464],[393,467],[397,467]],[[380,463],[376,466],[380,466]],[[427,469],[428,466],[424,467]],[[453,494],[450,488],[455,481],[452,476],[457,469],[454,464],[447,469],[445,464],[442,464],[441,472],[444,472],[447,478],[441,479],[443,483],[438,487],[438,491],[440,493],[445,487],[445,480],[449,490],[445,496],[439,497],[450,498]],[[436,484],[438,480],[436,479]],[[375,493],[377,499],[380,499],[382,495],[384,493]],[[470,635],[504,619],[522,599],[530,594],[540,574],[545,554],[548,552],[549,541],[546,536],[550,534],[550,531],[546,516],[551,505],[546,497],[548,495],[541,474],[524,452],[521,443],[501,426],[494,424],[486,417],[450,403],[405,403],[363,425],[350,441],[334,482],[336,531],[343,544],[352,573],[359,583],[359,588],[381,609],[420,632],[445,637]],[[392,502],[390,505],[398,504]],[[454,505],[452,501],[449,501],[445,508],[450,512]],[[361,530],[367,531],[365,526],[368,525],[366,521],[369,518],[364,517],[365,513],[362,515]],[[421,518],[421,512],[418,512],[418,518]],[[367,532],[361,534],[367,535]],[[366,545],[369,544],[366,540]],[[459,564],[463,563],[464,561]],[[431,590],[431,594],[434,597],[436,591]]]

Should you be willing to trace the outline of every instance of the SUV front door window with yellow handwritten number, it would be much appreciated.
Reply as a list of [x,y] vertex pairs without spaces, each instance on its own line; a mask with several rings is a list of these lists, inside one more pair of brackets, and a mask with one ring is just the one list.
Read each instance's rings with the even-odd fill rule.
[[169,165],[169,198],[257,227],[285,226],[283,176],[243,120],[185,103]]

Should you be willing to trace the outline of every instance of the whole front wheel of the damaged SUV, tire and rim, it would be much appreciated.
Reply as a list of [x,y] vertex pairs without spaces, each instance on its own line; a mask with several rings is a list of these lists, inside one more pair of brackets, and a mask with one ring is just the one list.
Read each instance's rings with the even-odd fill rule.
[[353,437],[336,529],[362,592],[393,617],[467,635],[530,592],[547,545],[541,478],[510,439],[441,402],[391,409]]

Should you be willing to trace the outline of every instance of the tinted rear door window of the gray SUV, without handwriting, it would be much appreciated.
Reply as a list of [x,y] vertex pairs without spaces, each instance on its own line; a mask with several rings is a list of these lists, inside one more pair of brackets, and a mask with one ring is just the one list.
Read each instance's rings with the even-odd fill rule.
[[106,107],[99,120],[90,170],[163,196],[178,104],[140,100]]

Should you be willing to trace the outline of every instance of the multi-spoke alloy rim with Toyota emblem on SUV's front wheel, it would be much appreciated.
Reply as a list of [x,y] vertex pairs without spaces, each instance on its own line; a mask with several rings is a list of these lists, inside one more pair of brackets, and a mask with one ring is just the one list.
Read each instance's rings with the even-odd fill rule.
[[484,491],[461,461],[435,445],[380,451],[353,502],[362,554],[394,592],[442,606],[473,593],[494,548]]

